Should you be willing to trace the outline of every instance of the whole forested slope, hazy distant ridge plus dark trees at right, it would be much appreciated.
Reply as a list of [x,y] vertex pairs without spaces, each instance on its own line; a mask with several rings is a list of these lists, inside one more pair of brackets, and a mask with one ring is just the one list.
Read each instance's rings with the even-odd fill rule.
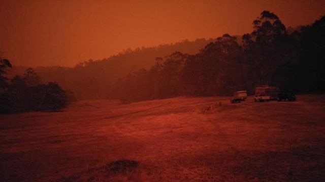
[[[78,99],[229,96],[241,89],[252,94],[255,86],[263,84],[290,92],[324,92],[324,26],[322,17],[311,25],[287,30],[276,14],[263,11],[253,20],[252,32],[242,36],[224,34],[216,39],[128,49],[73,68],[35,70],[43,81],[58,82]],[[15,72],[25,70],[20,69]]]

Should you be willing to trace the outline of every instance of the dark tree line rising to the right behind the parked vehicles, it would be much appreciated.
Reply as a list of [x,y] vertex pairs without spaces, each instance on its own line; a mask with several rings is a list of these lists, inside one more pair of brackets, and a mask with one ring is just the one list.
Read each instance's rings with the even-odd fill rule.
[[111,87],[110,98],[126,101],[181,95],[253,94],[257,85],[279,86],[284,92],[325,91],[325,17],[288,32],[279,17],[263,11],[253,31],[224,34],[198,54],[175,52],[139,69]]

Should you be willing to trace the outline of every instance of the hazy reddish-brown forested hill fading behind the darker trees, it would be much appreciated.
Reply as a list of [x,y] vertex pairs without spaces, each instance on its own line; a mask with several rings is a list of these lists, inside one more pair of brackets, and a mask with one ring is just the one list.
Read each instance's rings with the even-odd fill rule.
[[[127,49],[117,55],[102,60],[88,60],[73,68],[49,66],[36,67],[36,73],[44,82],[56,81],[63,88],[72,90],[78,99],[103,99],[117,79],[123,79],[128,73],[148,69],[157,61],[174,52],[197,54],[215,39],[200,38],[194,41],[161,44],[157,47]],[[14,67],[9,73],[22,75],[27,67]]]

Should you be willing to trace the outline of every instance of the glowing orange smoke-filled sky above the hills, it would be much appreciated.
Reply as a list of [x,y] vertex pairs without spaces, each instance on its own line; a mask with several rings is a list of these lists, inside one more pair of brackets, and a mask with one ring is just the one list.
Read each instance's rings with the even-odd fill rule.
[[74,66],[127,48],[252,31],[263,10],[310,24],[325,1],[0,1],[0,51],[14,65]]

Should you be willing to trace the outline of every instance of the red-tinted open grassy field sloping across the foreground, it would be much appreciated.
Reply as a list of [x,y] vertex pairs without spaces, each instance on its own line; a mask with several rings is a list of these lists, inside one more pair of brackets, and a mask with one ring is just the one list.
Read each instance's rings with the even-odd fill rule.
[[324,181],[325,96],[78,102],[0,116],[0,181]]

